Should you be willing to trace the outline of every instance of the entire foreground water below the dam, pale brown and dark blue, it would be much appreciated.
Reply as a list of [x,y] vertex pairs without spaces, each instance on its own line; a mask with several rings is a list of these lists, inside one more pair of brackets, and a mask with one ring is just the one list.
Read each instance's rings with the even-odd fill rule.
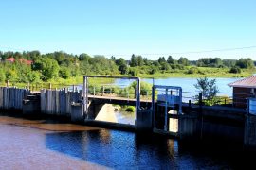
[[0,169],[243,169],[250,162],[239,147],[188,147],[160,136],[8,115],[0,116],[0,136]]

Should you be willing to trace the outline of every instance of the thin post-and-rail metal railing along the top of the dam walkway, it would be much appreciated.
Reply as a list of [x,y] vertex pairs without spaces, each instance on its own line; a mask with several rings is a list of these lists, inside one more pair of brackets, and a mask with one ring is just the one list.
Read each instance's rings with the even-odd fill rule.
[[[53,89],[53,90],[66,90],[72,92],[82,91],[82,84],[64,84],[64,83],[19,83],[9,82],[0,84],[2,87],[19,87],[28,89],[31,92],[40,92],[42,89]],[[164,91],[155,91],[155,97],[157,94],[165,93]],[[175,93],[175,92],[173,92]],[[113,85],[113,84],[101,84],[101,85],[89,85],[88,94],[91,96],[106,96],[106,97],[121,97],[129,99],[136,98],[136,91],[133,88],[129,88],[127,85]],[[182,92],[182,102],[188,104],[199,105],[200,104],[200,93],[199,92]],[[251,97],[249,93],[223,93],[219,92],[215,97],[211,99],[201,98],[203,105],[222,105],[231,107],[243,107],[247,108],[247,98]],[[152,90],[141,90],[141,100],[152,100]]]

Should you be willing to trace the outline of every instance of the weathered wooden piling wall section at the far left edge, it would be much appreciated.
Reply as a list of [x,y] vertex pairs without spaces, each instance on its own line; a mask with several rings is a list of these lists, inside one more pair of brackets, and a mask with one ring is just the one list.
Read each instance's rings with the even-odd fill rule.
[[0,109],[22,110],[23,99],[30,93],[27,89],[0,87]]

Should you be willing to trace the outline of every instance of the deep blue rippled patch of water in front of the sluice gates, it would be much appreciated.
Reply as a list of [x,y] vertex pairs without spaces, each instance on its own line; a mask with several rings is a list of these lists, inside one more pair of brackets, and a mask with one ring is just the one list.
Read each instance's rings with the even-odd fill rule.
[[48,149],[111,168],[233,169],[244,167],[240,152],[186,147],[162,136],[139,136],[117,130],[46,134]]

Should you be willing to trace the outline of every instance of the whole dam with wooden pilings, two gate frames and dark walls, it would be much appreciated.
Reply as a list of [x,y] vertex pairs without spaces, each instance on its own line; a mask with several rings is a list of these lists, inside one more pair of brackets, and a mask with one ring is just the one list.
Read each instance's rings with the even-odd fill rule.
[[[133,97],[100,96],[89,93],[89,78],[119,78],[136,82]],[[41,89],[32,92],[13,87],[0,88],[0,109],[18,110],[24,116],[49,115],[67,118],[82,125],[110,127],[135,131],[138,134],[156,133],[181,141],[232,141],[244,148],[256,146],[255,98],[248,98],[250,108],[205,106],[184,103],[181,87],[152,86],[151,99],[141,99],[140,78],[128,76],[84,76],[82,90]],[[134,124],[104,121],[112,108],[108,105],[135,107]],[[110,114],[109,114],[110,115]]]

